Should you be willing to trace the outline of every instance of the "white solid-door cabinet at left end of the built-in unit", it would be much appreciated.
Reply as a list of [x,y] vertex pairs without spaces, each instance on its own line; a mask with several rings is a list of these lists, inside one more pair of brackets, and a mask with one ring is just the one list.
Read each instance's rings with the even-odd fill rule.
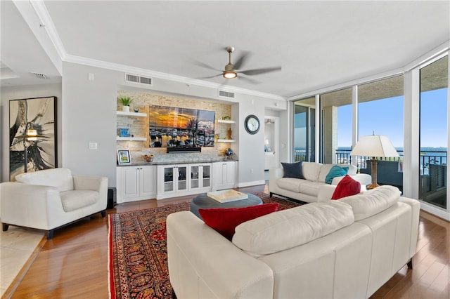
[[156,166],[117,167],[117,202],[153,199],[156,195]]

